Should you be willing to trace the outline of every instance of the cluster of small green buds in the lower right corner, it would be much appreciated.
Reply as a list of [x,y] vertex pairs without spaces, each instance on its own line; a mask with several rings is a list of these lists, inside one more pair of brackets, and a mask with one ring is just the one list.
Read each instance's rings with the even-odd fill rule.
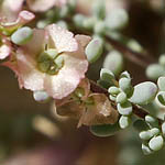
[[156,118],[145,116],[145,120],[136,120],[134,128],[140,132],[142,140],[142,151],[145,155],[152,154],[164,146],[165,124],[162,127]]

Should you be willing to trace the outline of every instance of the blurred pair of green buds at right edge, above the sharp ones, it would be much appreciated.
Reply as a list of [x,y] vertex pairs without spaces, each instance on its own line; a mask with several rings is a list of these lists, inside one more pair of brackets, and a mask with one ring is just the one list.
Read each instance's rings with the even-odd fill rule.
[[158,58],[158,64],[151,64],[146,68],[146,76],[150,79],[157,80],[158,77],[165,75],[165,54],[162,54]]

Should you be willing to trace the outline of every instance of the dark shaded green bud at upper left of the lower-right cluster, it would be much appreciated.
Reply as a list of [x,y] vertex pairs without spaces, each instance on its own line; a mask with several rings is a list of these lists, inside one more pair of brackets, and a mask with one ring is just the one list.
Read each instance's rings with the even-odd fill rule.
[[134,121],[133,128],[136,131],[139,131],[139,132],[141,132],[141,131],[147,131],[150,129],[150,127],[147,125],[147,123],[144,120],[141,120],[141,119]]

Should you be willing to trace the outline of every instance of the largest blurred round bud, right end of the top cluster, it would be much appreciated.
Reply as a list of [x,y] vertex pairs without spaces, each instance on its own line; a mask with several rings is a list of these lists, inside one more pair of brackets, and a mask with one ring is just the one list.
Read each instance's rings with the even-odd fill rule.
[[106,16],[106,25],[110,30],[123,29],[129,22],[128,12],[124,9],[110,10]]

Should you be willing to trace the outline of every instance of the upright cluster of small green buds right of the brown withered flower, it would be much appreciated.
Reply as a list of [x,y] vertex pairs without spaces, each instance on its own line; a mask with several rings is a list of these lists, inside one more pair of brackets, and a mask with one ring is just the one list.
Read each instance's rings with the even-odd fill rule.
[[119,125],[121,129],[125,129],[131,123],[132,105],[129,98],[133,94],[133,88],[131,86],[131,77],[128,72],[120,75],[118,86],[111,86],[108,89],[110,94],[109,98],[117,102],[117,109],[121,114],[119,119]]

